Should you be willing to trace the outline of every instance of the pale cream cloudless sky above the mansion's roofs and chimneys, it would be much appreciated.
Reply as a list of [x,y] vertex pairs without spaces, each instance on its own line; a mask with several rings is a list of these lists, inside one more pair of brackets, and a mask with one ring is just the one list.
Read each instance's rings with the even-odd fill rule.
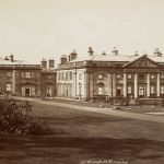
[[163,0],[0,0],[0,56],[39,62],[86,56],[164,52]]

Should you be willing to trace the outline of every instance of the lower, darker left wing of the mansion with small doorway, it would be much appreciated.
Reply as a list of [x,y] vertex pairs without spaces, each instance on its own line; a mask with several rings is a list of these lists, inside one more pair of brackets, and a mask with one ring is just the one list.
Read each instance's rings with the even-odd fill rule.
[[[51,78],[47,79],[50,75]],[[55,87],[55,72],[50,69],[43,69],[40,65],[14,60],[13,56],[5,57],[5,59],[0,59],[0,78],[1,94],[40,97],[46,93],[48,96],[55,96],[51,91]]]

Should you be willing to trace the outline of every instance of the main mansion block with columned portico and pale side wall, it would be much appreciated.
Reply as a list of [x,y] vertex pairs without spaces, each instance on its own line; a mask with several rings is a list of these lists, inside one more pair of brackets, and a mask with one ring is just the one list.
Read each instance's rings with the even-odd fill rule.
[[[62,59],[63,60],[63,59]],[[61,62],[57,69],[57,96],[96,97],[164,97],[164,58],[156,50],[152,56],[134,54],[94,55]]]

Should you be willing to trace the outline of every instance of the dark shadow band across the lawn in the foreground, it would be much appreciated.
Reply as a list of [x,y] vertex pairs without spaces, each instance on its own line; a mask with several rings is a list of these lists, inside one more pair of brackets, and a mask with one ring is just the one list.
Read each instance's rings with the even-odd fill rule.
[[[14,154],[8,152],[15,152]],[[16,153],[17,152],[17,153]],[[22,153],[20,153],[22,152]],[[0,137],[0,159],[22,157],[164,159],[164,142],[147,139]]]

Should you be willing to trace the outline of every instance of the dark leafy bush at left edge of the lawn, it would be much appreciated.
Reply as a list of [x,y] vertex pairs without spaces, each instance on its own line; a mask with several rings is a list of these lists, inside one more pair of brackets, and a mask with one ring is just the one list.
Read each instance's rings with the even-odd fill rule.
[[0,98],[0,133],[45,134],[51,130],[44,121],[30,115],[32,104],[28,101]]

